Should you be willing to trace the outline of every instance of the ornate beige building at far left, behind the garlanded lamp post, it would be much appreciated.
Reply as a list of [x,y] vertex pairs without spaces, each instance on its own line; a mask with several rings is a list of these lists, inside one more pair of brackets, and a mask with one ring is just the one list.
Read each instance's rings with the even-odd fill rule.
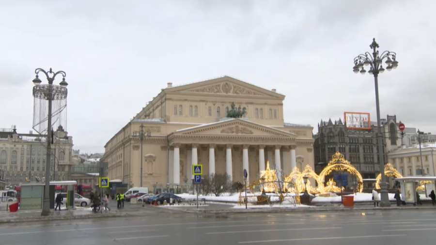
[[[51,148],[51,180],[70,180],[73,165],[73,138],[60,126],[54,132]],[[15,128],[0,129],[0,169],[8,184],[42,181],[46,174],[47,142],[45,136],[17,133]]]

